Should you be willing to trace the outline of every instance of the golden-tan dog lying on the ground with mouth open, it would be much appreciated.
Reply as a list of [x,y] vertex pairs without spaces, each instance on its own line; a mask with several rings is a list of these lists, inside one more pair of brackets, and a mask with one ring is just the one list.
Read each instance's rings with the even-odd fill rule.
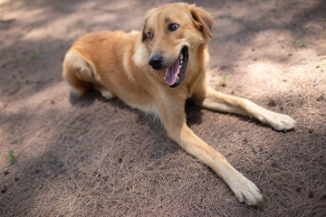
[[95,89],[106,99],[118,97],[131,108],[158,116],[169,138],[212,168],[241,203],[255,205],[263,199],[256,185],[187,127],[186,100],[256,118],[275,130],[292,129],[295,121],[206,86],[212,25],[212,17],[196,5],[150,9],[140,32],[91,33],[74,42],[64,57],[62,76],[79,94]]

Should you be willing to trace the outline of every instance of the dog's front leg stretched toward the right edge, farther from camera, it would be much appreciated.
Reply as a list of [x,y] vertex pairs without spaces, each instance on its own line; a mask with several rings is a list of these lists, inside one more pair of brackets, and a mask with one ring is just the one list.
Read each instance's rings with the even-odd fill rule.
[[287,115],[275,113],[254,104],[254,102],[248,99],[229,96],[216,90],[212,90],[211,88],[206,88],[196,94],[194,99],[197,105],[200,105],[205,109],[257,118],[276,130],[288,130],[295,127],[295,121]]

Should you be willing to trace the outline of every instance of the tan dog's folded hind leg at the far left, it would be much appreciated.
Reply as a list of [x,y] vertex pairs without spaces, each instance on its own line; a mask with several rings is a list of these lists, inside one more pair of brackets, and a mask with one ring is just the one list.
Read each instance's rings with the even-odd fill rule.
[[91,61],[86,60],[78,51],[72,50],[64,57],[62,76],[75,92],[83,94],[93,88],[101,92],[104,98],[112,98],[113,94],[96,80],[95,70]]

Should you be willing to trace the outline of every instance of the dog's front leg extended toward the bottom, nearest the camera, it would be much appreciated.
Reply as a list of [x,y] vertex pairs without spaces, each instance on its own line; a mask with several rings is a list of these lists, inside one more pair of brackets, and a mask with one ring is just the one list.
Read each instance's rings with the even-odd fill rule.
[[172,105],[164,106],[161,104],[159,107],[160,117],[167,128],[168,137],[177,142],[191,156],[197,157],[197,159],[212,168],[230,186],[240,202],[249,205],[261,202],[262,194],[256,185],[235,170],[224,156],[208,146],[187,127],[184,103],[169,100],[169,103],[165,105]]

